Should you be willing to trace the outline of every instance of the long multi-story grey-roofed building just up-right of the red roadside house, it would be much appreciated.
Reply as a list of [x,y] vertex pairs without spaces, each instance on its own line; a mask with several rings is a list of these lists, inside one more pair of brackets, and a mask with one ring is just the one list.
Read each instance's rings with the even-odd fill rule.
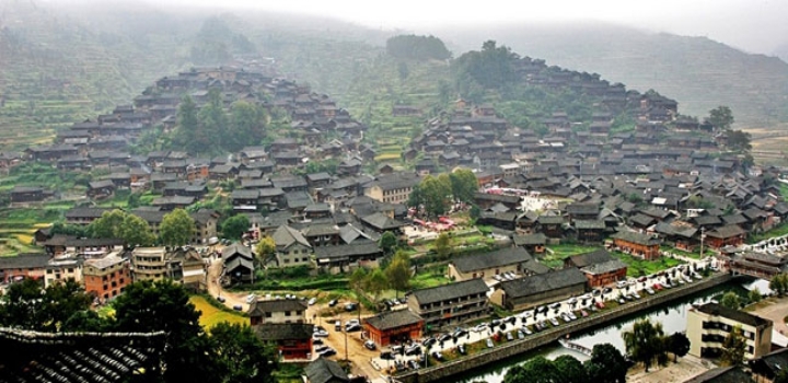
[[414,291],[408,298],[410,311],[433,329],[487,316],[487,285],[476,278]]

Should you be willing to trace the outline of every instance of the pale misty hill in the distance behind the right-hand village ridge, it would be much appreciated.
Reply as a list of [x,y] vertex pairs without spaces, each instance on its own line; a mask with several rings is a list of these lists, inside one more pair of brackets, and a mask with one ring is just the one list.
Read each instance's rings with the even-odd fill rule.
[[521,56],[601,73],[630,89],[654,89],[677,100],[683,114],[706,116],[709,109],[728,105],[743,127],[788,121],[788,63],[705,37],[610,24],[505,25],[433,33],[454,44],[455,56],[495,39]]

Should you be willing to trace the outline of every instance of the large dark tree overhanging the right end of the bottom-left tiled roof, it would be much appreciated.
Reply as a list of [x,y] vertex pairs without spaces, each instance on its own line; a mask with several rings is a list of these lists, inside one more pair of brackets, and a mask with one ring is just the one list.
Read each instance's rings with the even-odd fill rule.
[[165,367],[150,371],[152,376],[161,374],[167,382],[221,381],[217,355],[199,324],[200,312],[183,286],[170,279],[135,282],[115,299],[114,306],[113,330],[166,334]]

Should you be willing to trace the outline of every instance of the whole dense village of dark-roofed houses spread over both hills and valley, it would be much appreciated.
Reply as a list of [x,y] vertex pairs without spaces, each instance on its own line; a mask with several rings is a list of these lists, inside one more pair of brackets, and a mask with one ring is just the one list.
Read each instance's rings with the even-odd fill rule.
[[[478,208],[462,229],[483,227],[496,241],[483,247],[486,252],[451,256],[444,263],[449,283],[410,291],[406,305],[413,315],[396,314],[402,316],[397,326],[407,328],[417,317],[434,329],[454,328],[489,316],[493,305],[523,310],[581,294],[626,278],[628,265],[617,254],[654,260],[667,248],[706,252],[746,263],[757,272],[775,272],[769,262],[737,251],[751,235],[788,217],[777,169],[744,163],[742,155],[727,150],[719,127],[681,116],[675,101],[656,92],[626,90],[599,76],[530,58],[520,60],[518,73],[532,86],[593,97],[596,112],[591,120],[577,121],[555,111],[538,121],[537,131],[512,126],[491,104],[460,98],[441,114],[425,116],[422,132],[401,161],[380,163],[376,143],[364,140],[364,124],[328,95],[277,78],[264,66],[202,68],[162,78],[134,104],[76,123],[51,144],[2,153],[0,167],[10,172],[35,163],[62,173],[103,174],[91,177],[78,198],[63,198],[66,190],[16,185],[8,194],[9,205],[36,209],[62,198],[74,205],[63,212],[62,223],[89,225],[115,209],[99,207],[102,201],[121,190],[146,194],[149,198],[127,212],[159,236],[165,217],[186,209],[195,224],[188,246],[135,248],[119,239],[42,228],[35,232],[42,251],[0,258],[0,279],[36,278],[46,286],[74,279],[103,304],[137,280],[169,278],[206,291],[209,257],[218,255],[223,282],[241,288],[252,286],[260,269],[300,267],[312,276],[349,276],[359,267],[387,264],[391,256],[380,241],[387,232],[403,247],[421,246],[414,257],[429,255],[431,241],[419,236],[437,234],[424,222],[439,217],[415,217],[410,194],[426,177],[456,169],[473,170],[478,182],[473,199],[453,211],[467,217],[470,206]],[[215,158],[176,150],[131,154],[147,131],[176,128],[183,95],[200,106],[211,89],[221,91],[228,108],[243,100],[271,114],[283,111],[291,134]],[[425,114],[422,107],[393,105],[392,114],[412,118]],[[635,129],[617,129],[619,115],[629,116]],[[335,169],[308,172],[310,163],[326,161]],[[229,208],[202,207],[209,198],[223,198]],[[248,218],[244,240],[213,247],[229,214]],[[276,254],[260,259],[252,244],[266,237],[276,244]],[[559,267],[541,262],[551,246],[565,243],[600,249],[572,254]],[[455,299],[473,304],[443,307]],[[443,315],[444,309],[452,314]],[[291,311],[298,313],[296,320],[264,320]],[[247,314],[260,336],[285,348],[286,360],[312,355],[313,324],[306,324],[303,302],[262,300]],[[375,329],[375,321],[393,323],[384,320],[391,314],[380,315],[364,323],[364,332],[384,346],[402,334]],[[282,346],[294,340],[282,334],[298,337],[298,346]]]

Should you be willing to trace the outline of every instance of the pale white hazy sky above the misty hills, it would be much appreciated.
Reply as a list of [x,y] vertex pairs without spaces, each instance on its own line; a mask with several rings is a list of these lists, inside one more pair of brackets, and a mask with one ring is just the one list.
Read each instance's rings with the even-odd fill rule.
[[[46,1],[46,0],[45,0]],[[63,1],[63,0],[50,0]],[[66,0],[68,1],[68,0]],[[500,22],[603,21],[654,32],[706,36],[772,54],[788,43],[787,0],[132,0],[270,10],[337,18],[375,28]]]

